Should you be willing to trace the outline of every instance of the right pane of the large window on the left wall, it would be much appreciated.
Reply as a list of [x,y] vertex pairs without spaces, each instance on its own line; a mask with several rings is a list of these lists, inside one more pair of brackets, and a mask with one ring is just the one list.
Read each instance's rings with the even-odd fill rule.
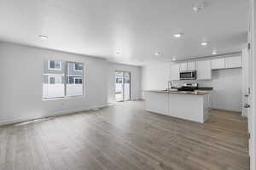
[[67,96],[83,95],[83,68],[82,63],[67,62]]

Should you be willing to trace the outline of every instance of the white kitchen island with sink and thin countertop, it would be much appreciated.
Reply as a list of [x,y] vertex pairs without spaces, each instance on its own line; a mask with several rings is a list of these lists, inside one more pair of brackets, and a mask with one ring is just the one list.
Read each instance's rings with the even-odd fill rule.
[[209,117],[207,92],[147,90],[144,94],[146,111],[201,123]]

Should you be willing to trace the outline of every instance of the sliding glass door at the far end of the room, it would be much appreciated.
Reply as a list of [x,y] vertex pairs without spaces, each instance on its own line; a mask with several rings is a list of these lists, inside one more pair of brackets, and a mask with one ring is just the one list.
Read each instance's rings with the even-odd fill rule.
[[115,100],[126,101],[131,99],[131,73],[115,71]]

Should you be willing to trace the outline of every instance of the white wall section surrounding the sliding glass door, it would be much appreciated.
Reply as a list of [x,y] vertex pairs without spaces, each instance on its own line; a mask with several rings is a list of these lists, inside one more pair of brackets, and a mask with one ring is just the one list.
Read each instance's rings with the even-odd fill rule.
[[131,99],[141,99],[141,67],[108,63],[108,103],[115,102],[115,71],[131,72]]

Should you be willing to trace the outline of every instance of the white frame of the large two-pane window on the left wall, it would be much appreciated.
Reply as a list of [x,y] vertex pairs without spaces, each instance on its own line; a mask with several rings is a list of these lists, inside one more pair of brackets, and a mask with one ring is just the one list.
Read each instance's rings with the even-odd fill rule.
[[[49,61],[60,61],[60,69],[51,69],[49,68]],[[68,60],[59,60],[59,59],[48,59],[48,70],[53,70],[53,71],[62,71],[62,62],[65,62],[65,68],[64,68],[64,74],[56,74],[56,75],[60,75],[61,76],[61,84],[64,84],[64,96],[63,97],[53,97],[53,98],[44,98],[44,88],[42,88],[42,99],[44,101],[48,101],[48,100],[56,100],[56,99],[73,99],[73,98],[83,98],[84,95],[85,95],[85,80],[84,80],[84,63],[83,62],[77,62],[77,61],[68,61]],[[44,62],[43,62],[44,63]],[[81,95],[73,95],[73,96],[70,96],[70,95],[67,95],[67,76],[70,76],[67,74],[67,70],[68,70],[68,64],[69,63],[79,63],[79,65],[82,65],[82,70],[79,70],[82,72],[82,75],[78,78],[82,79],[82,94]],[[44,68],[44,67],[43,67]],[[52,76],[52,77],[55,77],[55,73],[44,73],[44,69],[42,71],[42,85],[44,86],[44,75],[48,75],[49,77]],[[77,76],[77,75],[76,75]],[[49,77],[48,77],[48,84],[49,84]],[[64,77],[64,80],[62,81],[62,77]],[[73,84],[76,84],[76,83],[73,83]]]

